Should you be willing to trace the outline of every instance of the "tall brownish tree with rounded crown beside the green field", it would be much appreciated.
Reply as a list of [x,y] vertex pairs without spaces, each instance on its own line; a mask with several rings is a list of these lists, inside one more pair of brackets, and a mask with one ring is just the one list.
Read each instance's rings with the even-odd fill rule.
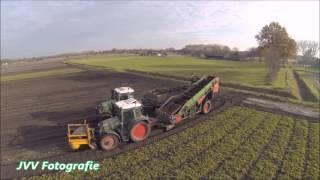
[[296,56],[297,44],[289,37],[286,28],[277,22],[265,25],[255,38],[259,44],[258,52],[266,59],[269,68],[268,79],[272,81],[281,64]]

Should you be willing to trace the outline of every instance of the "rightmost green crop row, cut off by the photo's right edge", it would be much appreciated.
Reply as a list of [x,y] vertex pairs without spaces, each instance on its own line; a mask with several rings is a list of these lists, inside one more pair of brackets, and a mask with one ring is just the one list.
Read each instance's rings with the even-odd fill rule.
[[320,126],[309,123],[309,142],[304,179],[320,179]]

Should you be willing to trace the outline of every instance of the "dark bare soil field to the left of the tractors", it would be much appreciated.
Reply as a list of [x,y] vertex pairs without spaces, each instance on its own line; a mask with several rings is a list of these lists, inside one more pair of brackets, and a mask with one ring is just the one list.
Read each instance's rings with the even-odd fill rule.
[[69,151],[66,125],[92,119],[110,90],[130,86],[139,97],[147,90],[181,85],[174,81],[107,71],[2,83],[2,164]]

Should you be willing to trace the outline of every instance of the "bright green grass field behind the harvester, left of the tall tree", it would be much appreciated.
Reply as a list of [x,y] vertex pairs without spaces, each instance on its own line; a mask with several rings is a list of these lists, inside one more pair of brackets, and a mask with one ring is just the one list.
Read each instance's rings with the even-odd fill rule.
[[112,68],[117,71],[133,69],[178,76],[190,76],[192,73],[216,74],[224,82],[257,86],[266,85],[267,74],[264,63],[204,60],[186,56],[93,56],[70,62]]

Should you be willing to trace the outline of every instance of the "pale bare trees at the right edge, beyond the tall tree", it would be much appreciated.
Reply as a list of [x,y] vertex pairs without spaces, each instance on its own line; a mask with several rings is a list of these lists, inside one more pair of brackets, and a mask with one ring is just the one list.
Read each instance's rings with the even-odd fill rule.
[[298,49],[302,56],[314,58],[319,52],[319,44],[316,41],[304,40],[298,42]]

